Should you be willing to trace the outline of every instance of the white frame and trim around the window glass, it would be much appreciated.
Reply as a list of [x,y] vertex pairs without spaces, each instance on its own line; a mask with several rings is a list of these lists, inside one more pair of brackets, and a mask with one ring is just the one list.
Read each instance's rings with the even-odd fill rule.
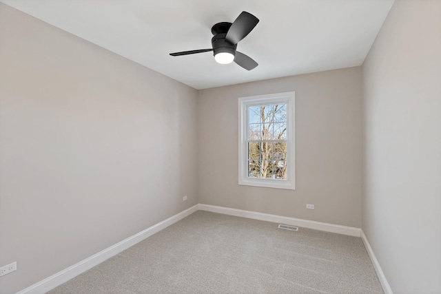
[[[238,133],[239,133],[239,185],[267,187],[277,189],[296,189],[296,124],[295,94],[285,92],[277,94],[238,98]],[[248,176],[248,112],[247,107],[284,103],[287,105],[287,179],[250,178]]]

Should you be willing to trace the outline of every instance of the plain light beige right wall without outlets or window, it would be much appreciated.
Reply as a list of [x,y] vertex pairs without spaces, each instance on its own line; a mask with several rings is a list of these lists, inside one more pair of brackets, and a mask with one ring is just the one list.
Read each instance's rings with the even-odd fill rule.
[[441,1],[395,1],[363,88],[362,229],[394,293],[441,293]]

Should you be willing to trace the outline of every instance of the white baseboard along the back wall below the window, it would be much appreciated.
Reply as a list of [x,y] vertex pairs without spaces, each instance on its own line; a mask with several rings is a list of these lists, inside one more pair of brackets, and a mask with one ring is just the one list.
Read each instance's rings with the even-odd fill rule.
[[291,226],[327,231],[331,233],[339,233],[343,235],[351,235],[355,237],[360,237],[361,232],[361,229],[358,228],[340,226],[339,224],[328,224],[326,222],[315,222],[314,220],[302,220],[300,218],[289,218],[287,216],[276,216],[274,214],[247,211],[242,209],[233,209],[228,207],[218,207],[208,204],[198,204],[198,207],[200,210],[228,214],[229,216],[240,216],[242,218],[252,218],[254,220],[278,222],[280,224],[289,224]]

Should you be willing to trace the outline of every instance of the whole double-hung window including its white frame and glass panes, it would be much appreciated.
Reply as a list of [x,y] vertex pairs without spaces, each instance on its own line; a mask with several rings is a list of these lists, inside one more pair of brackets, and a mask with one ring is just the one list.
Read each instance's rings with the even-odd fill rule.
[[239,98],[239,185],[295,189],[294,92]]

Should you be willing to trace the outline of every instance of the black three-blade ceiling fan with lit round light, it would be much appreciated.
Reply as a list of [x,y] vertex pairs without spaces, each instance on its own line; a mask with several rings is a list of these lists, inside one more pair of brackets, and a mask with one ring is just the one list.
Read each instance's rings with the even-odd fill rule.
[[214,52],[214,59],[218,63],[227,64],[233,61],[245,68],[252,70],[258,65],[251,57],[236,51],[237,43],[245,38],[259,22],[253,14],[243,11],[233,23],[216,23],[212,27],[212,49],[200,49],[184,52],[170,53],[172,56]]

